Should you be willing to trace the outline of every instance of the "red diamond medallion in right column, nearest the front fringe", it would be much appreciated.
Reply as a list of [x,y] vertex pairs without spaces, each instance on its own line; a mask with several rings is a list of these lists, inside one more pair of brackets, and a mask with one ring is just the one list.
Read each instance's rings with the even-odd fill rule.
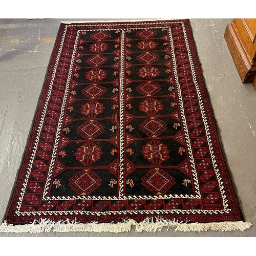
[[142,185],[155,195],[165,194],[175,184],[175,179],[159,168],[151,169],[141,180]]

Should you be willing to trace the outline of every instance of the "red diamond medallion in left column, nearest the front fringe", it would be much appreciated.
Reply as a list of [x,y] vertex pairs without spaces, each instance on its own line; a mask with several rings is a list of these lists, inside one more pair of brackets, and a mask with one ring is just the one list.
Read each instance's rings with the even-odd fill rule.
[[69,186],[76,191],[78,195],[89,195],[100,185],[101,179],[92,170],[81,170],[69,179]]

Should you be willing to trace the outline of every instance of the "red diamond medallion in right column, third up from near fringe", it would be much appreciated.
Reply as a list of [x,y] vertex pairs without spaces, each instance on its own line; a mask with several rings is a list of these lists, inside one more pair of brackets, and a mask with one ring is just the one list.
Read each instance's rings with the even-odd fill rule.
[[139,129],[147,136],[158,137],[167,129],[167,125],[162,120],[156,117],[151,117],[139,124]]

